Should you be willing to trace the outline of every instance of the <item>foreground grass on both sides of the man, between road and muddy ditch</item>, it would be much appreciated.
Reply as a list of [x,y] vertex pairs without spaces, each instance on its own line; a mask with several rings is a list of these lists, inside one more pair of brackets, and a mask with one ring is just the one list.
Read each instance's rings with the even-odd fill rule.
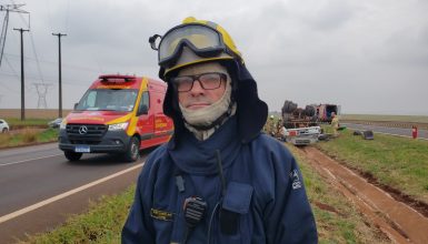
[[[341,193],[326,183],[311,169],[303,155],[290,146],[297,156],[308,197],[316,216],[320,243],[388,243],[358,213]],[[29,236],[20,243],[120,243],[120,232],[133,200],[135,186],[126,192],[102,197],[91,204],[86,214],[73,215],[63,226],[51,232]]]

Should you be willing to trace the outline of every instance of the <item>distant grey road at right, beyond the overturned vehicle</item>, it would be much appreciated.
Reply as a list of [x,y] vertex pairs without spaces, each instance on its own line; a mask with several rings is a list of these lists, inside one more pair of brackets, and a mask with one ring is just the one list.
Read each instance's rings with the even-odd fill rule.
[[[361,131],[362,130],[371,130],[375,133],[384,133],[384,134],[411,138],[411,129],[386,128],[386,126],[379,126],[379,125],[351,124],[351,123],[340,123],[340,125],[345,125],[351,130],[361,130]],[[418,139],[428,140],[428,131],[427,130],[418,130]]]

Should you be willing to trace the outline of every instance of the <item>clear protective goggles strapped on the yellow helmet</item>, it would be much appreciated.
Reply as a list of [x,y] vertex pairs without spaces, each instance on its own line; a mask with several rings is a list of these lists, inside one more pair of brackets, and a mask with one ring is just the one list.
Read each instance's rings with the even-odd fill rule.
[[[157,44],[158,38],[160,38],[159,44]],[[198,23],[177,26],[163,37],[155,34],[149,42],[153,50],[158,50],[159,65],[166,68],[177,62],[185,45],[202,58],[215,57],[227,51],[220,32]]]

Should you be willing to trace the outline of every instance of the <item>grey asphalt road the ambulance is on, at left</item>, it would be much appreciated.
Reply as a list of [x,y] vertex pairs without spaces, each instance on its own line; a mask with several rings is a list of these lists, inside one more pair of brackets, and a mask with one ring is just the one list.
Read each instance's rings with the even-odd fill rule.
[[147,154],[136,163],[103,154],[70,163],[57,143],[0,150],[0,243],[50,230],[86,210],[89,200],[123,191]]

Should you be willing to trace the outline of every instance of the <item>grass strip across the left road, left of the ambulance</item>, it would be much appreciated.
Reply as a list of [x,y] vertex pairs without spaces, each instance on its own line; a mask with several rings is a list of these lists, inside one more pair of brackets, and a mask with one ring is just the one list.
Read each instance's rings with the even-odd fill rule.
[[0,149],[54,142],[58,133],[57,129],[23,129],[19,133],[0,133]]

